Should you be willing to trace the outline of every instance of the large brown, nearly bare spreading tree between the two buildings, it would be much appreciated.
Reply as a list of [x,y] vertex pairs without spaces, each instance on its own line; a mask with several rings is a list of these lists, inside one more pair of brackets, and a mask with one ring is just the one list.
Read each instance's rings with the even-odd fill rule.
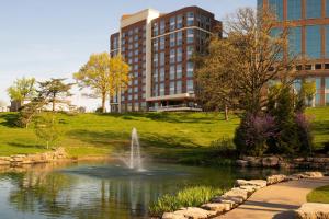
[[[202,83],[202,89],[206,91],[216,90],[209,93],[209,99],[220,93],[224,100],[222,105],[235,106],[248,114],[258,115],[266,105],[268,99],[264,93],[269,82],[292,82],[296,57],[292,54],[285,55],[287,30],[283,28],[274,35],[275,25],[276,18],[268,10],[239,9],[228,19],[225,31],[227,37],[215,37],[211,45],[217,45],[218,49],[216,53],[211,49],[209,55],[204,57],[204,62],[212,64],[206,66],[209,69],[207,80],[217,80],[218,83],[217,87]],[[212,74],[213,69],[217,69],[217,73]],[[225,84],[235,90],[238,100],[229,97],[232,90],[226,89]]]

